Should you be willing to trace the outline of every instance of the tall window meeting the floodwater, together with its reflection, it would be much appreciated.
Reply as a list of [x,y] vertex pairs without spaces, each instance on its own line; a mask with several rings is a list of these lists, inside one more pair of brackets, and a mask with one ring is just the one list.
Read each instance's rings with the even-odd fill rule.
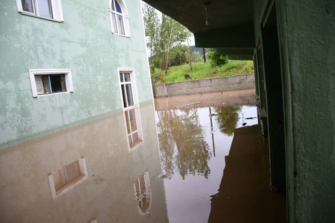
[[128,148],[131,151],[143,142],[135,75],[133,70],[118,71]]

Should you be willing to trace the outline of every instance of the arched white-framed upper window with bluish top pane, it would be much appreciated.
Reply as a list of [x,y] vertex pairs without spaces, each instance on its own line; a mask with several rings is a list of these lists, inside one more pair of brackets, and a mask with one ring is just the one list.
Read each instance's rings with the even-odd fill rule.
[[109,2],[112,32],[129,37],[129,16],[126,4],[123,0],[110,0]]

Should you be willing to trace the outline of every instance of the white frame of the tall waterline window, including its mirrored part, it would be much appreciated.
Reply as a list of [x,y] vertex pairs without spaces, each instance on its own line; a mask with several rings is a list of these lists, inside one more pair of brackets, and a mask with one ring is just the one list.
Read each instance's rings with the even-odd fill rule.
[[[143,142],[144,142],[143,131],[142,131],[142,122],[141,122],[141,113],[140,113],[140,105],[139,105],[139,101],[138,101],[138,94],[137,94],[137,87],[136,87],[135,71],[134,71],[134,68],[117,68],[117,71],[118,71],[117,78],[119,80],[120,99],[121,99],[121,106],[122,106],[122,115],[123,115],[123,120],[124,120],[124,125],[125,125],[125,131],[126,131],[128,151],[131,152],[135,148],[137,148],[138,146],[142,145]],[[121,82],[120,72],[121,73],[129,73],[130,74],[130,82]],[[131,84],[131,91],[132,91],[132,95],[133,95],[134,105],[124,108],[121,84],[124,84],[124,85]],[[126,92],[125,92],[125,94],[126,94]],[[127,98],[126,98],[126,101],[127,101]],[[136,143],[133,147],[130,147],[130,144],[129,144],[129,138],[128,138],[129,134],[128,134],[128,131],[127,131],[127,120],[126,120],[126,117],[125,117],[125,111],[129,111],[131,109],[134,109],[134,111],[135,111],[135,118],[136,118],[136,125],[137,125],[137,135],[138,135],[138,143]],[[129,114],[129,112],[128,112],[128,114]],[[131,128],[131,126],[129,126],[129,127]],[[132,134],[132,133],[134,133],[134,132],[131,132],[130,134]]]

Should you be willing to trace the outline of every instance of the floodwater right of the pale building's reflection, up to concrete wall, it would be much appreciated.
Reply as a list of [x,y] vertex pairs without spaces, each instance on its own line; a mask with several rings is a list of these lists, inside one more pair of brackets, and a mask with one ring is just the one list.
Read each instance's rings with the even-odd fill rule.
[[254,102],[245,92],[156,99],[162,170],[173,174],[164,179],[169,222],[285,222],[257,107],[232,105]]

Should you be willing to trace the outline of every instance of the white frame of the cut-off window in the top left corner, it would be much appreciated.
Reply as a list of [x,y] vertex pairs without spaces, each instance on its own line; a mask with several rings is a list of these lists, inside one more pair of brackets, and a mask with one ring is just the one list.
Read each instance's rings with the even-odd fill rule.
[[51,9],[52,9],[52,15],[53,15],[52,19],[40,16],[37,0],[32,0],[32,8],[34,12],[23,11],[21,0],[16,0],[16,6],[17,6],[17,11],[22,14],[37,16],[40,18],[48,19],[48,20],[64,22],[61,0],[51,0]]

